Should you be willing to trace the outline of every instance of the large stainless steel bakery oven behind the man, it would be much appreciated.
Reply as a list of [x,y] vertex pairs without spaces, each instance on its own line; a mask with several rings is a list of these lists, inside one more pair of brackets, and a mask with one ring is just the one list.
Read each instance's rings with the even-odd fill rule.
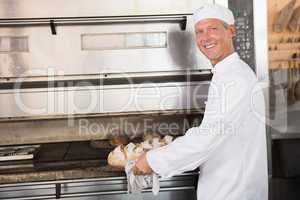
[[0,0],[0,145],[37,148],[0,163],[0,199],[195,199],[198,171],[161,180],[156,197],[126,194],[105,141],[201,123],[212,74],[192,12],[204,2],[233,9],[236,50],[262,80],[258,1]]

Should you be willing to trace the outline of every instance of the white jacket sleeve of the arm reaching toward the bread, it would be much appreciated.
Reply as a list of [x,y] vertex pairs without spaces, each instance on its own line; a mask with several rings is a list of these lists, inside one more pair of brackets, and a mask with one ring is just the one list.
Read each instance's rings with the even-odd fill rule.
[[146,158],[152,170],[170,177],[199,167],[225,140],[239,134],[236,130],[249,109],[249,99],[249,83],[242,78],[212,81],[201,125],[171,144],[149,151]]

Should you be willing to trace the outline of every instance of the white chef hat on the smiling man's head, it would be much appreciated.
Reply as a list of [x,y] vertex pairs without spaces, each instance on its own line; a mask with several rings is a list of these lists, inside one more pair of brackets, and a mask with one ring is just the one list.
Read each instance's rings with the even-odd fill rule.
[[193,14],[195,24],[209,18],[222,20],[228,25],[234,24],[234,17],[231,10],[218,4],[203,4]]

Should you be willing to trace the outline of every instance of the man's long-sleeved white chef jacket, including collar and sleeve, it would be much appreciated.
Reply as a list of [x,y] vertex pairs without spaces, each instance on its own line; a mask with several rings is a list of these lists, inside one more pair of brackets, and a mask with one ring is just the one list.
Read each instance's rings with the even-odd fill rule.
[[201,125],[146,158],[162,177],[200,167],[198,200],[268,199],[264,97],[237,53],[214,66]]

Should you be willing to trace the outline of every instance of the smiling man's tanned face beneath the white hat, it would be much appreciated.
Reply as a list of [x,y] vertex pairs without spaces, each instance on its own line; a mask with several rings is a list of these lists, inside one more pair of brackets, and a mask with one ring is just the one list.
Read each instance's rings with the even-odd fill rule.
[[195,31],[197,46],[213,65],[234,52],[234,26],[225,28],[221,20],[205,19],[195,25]]

